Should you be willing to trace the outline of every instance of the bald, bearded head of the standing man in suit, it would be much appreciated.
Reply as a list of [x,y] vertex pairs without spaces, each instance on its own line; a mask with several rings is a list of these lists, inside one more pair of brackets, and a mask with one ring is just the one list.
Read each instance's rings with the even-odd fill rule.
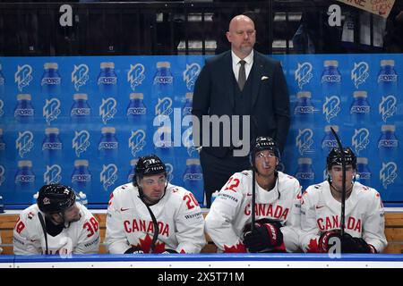
[[228,42],[231,50],[241,59],[251,54],[256,42],[256,31],[251,18],[245,15],[237,15],[229,22],[227,31]]

